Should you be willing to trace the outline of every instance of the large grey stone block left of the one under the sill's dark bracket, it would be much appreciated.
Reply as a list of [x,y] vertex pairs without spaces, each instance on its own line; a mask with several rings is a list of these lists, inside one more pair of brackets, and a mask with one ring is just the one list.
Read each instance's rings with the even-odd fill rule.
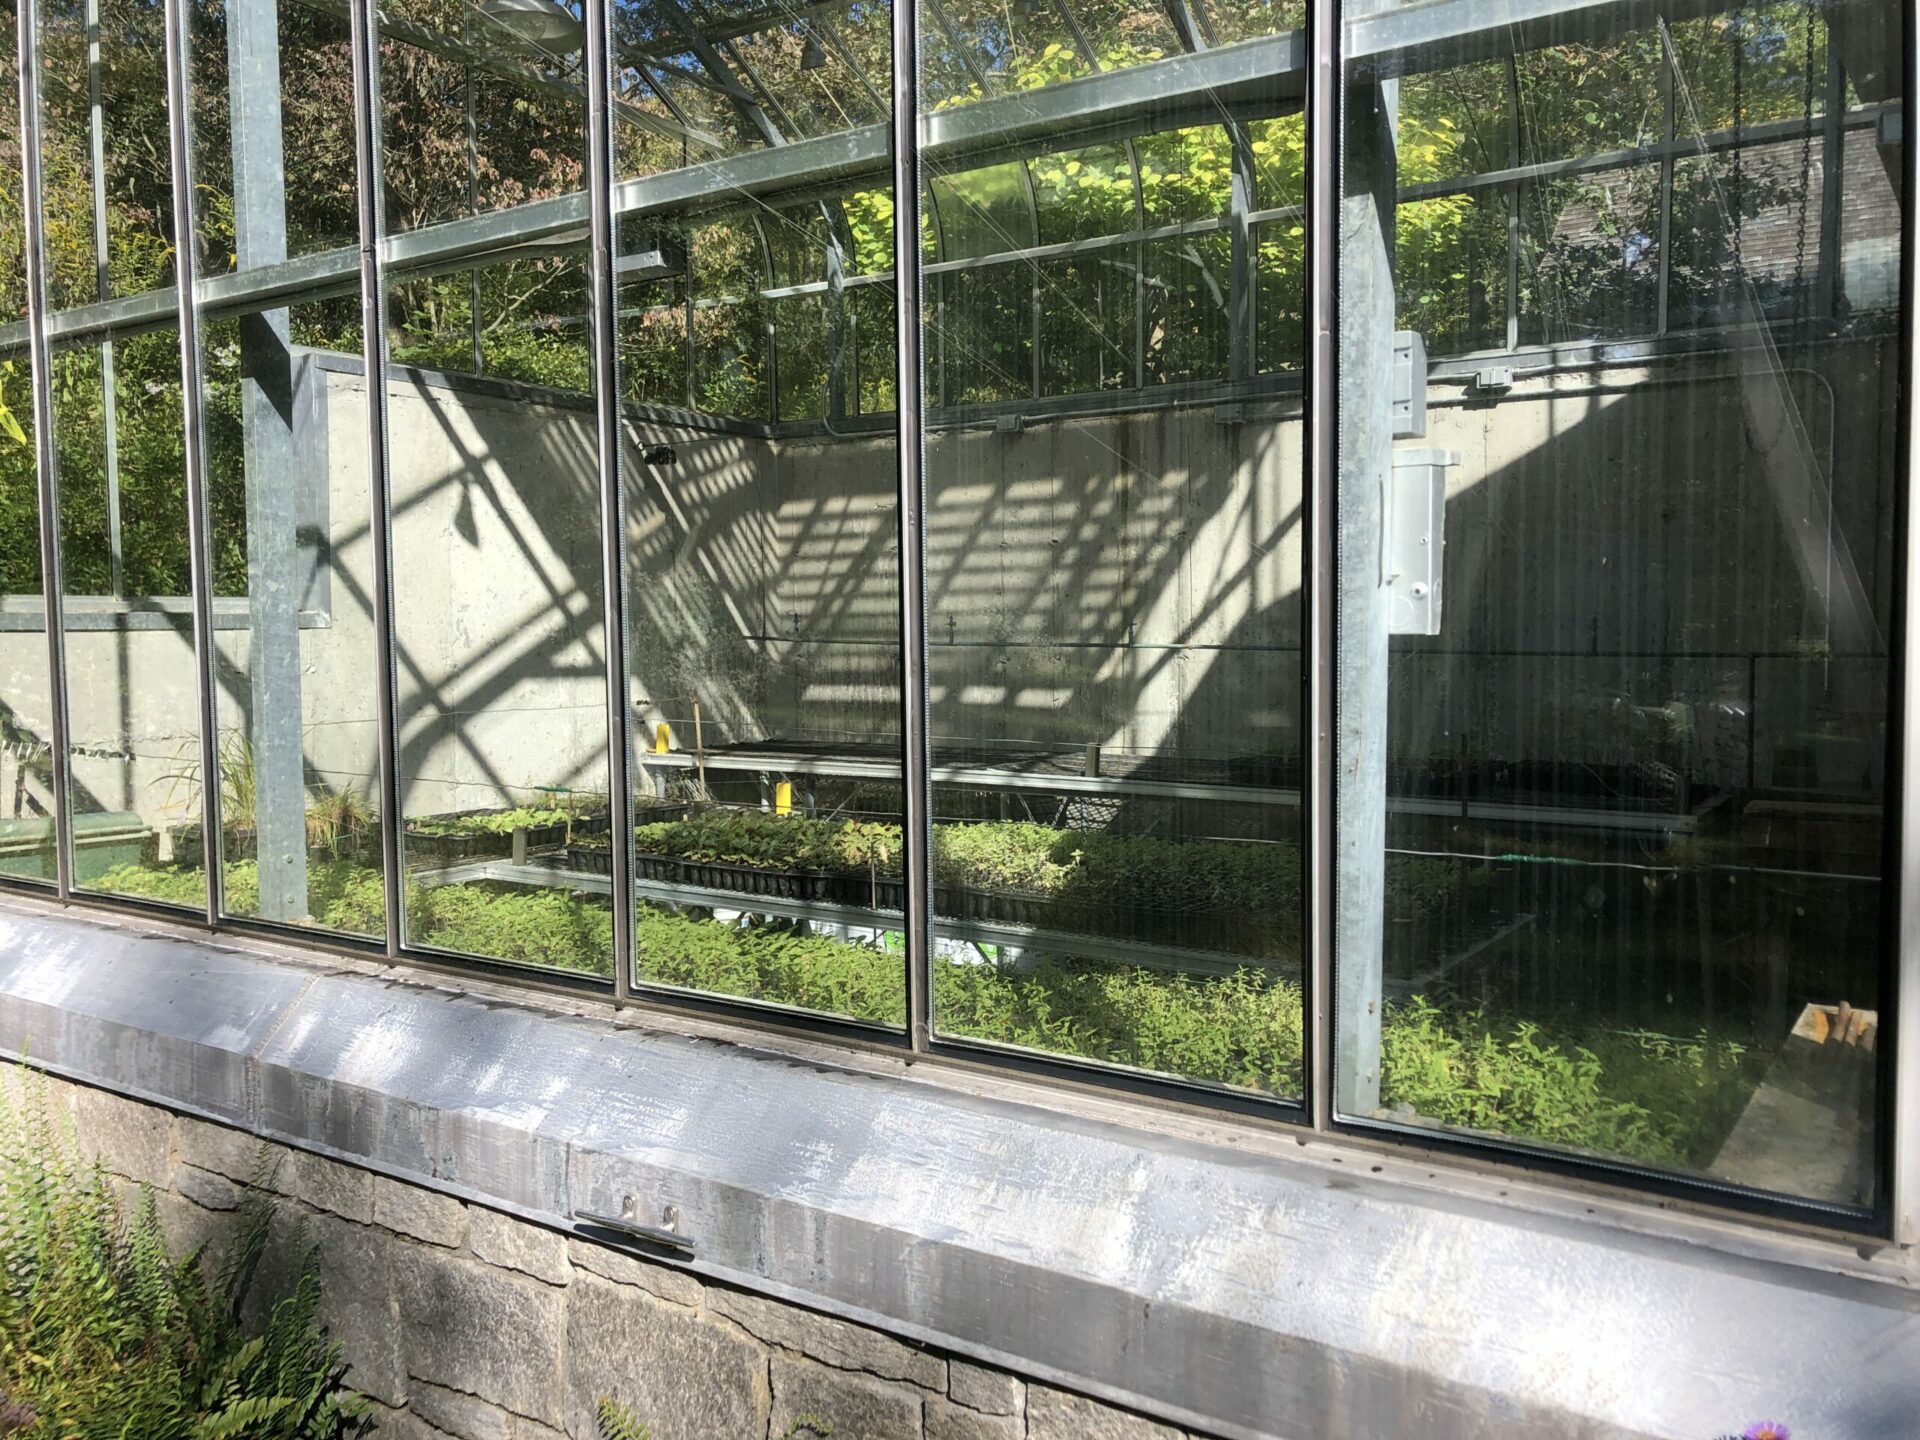
[[392,1258],[409,1375],[561,1423],[559,1290],[409,1240],[392,1240]]

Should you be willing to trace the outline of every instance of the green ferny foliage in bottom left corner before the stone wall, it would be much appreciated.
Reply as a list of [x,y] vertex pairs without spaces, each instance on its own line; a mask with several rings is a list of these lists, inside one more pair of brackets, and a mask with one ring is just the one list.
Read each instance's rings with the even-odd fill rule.
[[290,1294],[240,1323],[267,1242],[269,1202],[248,1198],[240,1238],[207,1283],[177,1260],[152,1188],[125,1213],[84,1165],[31,1075],[0,1098],[0,1390],[23,1440],[342,1440],[371,1407],[315,1321],[311,1252]]

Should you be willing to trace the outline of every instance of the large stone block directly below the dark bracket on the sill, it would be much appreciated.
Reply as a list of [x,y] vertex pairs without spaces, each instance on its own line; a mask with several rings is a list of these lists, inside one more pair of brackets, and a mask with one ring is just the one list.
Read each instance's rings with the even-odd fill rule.
[[766,1434],[772,1396],[766,1350],[755,1340],[593,1273],[547,1294],[566,1300],[568,1434],[595,1432],[601,1396],[632,1405],[653,1440]]

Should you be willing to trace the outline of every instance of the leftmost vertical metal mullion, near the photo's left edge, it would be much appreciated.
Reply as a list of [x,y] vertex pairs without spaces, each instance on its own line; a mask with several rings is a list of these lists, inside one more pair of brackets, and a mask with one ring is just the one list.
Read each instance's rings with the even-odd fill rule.
[[27,369],[33,378],[33,459],[40,501],[40,603],[46,611],[48,743],[54,772],[54,889],[73,895],[73,756],[67,749],[67,618],[60,564],[60,482],[54,463],[54,378],[46,349],[46,211],[40,175],[40,17],[36,0],[15,13],[19,61],[21,225],[27,252]]

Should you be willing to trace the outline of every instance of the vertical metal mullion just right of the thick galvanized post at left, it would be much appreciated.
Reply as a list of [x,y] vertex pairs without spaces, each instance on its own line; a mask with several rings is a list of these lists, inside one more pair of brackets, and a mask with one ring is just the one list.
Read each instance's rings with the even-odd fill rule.
[[380,202],[380,77],[374,67],[374,0],[351,0],[353,150],[359,186],[361,348],[367,353],[367,495],[372,549],[374,710],[380,722],[380,874],[386,952],[403,941],[407,877],[401,872],[399,728],[394,668],[394,503],[386,472],[386,213]]

